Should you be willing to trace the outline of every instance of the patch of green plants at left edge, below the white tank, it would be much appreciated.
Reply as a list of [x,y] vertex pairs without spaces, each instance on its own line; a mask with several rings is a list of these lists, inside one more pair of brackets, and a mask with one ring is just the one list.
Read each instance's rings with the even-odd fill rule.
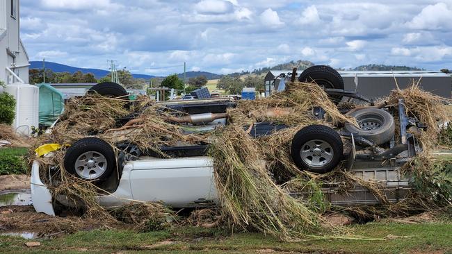
[[26,173],[26,148],[0,149],[0,176]]

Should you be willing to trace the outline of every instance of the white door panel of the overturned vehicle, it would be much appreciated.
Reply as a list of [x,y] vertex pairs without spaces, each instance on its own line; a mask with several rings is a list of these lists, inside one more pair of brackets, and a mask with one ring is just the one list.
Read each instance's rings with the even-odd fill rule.
[[213,161],[209,157],[135,161],[130,185],[138,201],[163,201],[175,208],[217,202]]

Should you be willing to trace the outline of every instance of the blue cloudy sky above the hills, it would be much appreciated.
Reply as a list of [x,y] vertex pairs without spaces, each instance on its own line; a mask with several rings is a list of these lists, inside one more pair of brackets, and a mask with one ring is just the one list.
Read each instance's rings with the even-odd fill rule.
[[[31,60],[227,74],[310,60],[452,69],[452,0],[21,0]],[[168,68],[161,68],[168,67]]]

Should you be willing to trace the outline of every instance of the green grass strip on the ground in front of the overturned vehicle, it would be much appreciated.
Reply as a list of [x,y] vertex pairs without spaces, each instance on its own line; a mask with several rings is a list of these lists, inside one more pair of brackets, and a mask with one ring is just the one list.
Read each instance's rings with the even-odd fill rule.
[[[55,239],[26,240],[0,236],[0,253],[452,253],[452,223],[367,223],[348,227],[354,237],[280,242],[257,233],[229,235],[192,226],[137,233],[92,230]],[[28,248],[26,242],[40,242]]]

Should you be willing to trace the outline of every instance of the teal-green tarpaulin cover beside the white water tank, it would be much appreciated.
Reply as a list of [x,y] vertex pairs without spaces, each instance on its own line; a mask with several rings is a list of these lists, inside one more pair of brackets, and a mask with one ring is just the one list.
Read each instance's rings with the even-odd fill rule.
[[51,126],[64,110],[63,94],[49,84],[39,87],[39,124]]

